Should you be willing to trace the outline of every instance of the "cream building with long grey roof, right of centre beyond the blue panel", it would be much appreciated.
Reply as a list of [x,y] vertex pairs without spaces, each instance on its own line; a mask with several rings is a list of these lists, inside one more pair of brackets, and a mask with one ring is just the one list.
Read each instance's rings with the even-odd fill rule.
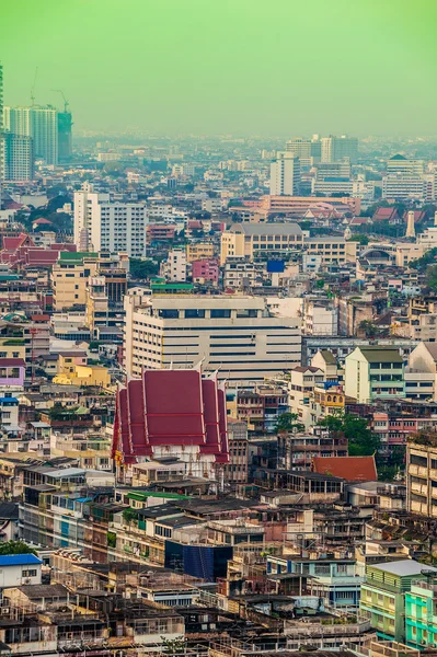
[[280,256],[301,250],[303,232],[298,223],[233,223],[221,234],[220,264],[228,257]]

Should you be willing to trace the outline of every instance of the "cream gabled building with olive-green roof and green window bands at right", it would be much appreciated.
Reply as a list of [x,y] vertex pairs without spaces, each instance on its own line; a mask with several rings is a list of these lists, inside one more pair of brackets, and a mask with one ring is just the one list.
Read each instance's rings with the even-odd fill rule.
[[404,360],[399,349],[357,347],[345,359],[345,393],[359,404],[405,396]]

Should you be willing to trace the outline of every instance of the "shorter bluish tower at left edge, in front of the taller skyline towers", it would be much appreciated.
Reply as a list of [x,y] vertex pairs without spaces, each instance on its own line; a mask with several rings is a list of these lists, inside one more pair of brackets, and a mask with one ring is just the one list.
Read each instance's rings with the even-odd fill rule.
[[3,132],[2,178],[19,183],[32,181],[35,173],[32,137]]

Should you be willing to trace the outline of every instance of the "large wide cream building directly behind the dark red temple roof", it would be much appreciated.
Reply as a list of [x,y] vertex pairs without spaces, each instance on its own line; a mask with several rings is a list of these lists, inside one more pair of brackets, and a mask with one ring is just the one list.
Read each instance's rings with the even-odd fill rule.
[[125,367],[194,367],[254,387],[300,362],[299,321],[273,316],[263,298],[164,295],[125,297]]

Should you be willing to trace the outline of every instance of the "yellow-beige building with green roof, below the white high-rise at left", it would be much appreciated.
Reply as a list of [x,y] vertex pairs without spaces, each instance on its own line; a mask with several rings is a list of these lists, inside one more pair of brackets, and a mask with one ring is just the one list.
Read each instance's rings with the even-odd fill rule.
[[85,306],[88,279],[96,268],[96,253],[60,252],[51,272],[55,312]]

